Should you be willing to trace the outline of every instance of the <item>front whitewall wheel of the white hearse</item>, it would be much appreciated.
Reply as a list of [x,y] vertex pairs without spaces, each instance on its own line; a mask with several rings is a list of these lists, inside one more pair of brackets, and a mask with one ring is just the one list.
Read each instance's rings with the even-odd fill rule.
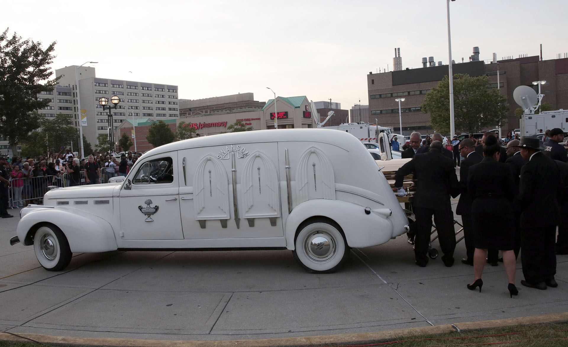
[[34,251],[37,261],[45,270],[65,269],[71,261],[71,250],[63,232],[55,225],[41,225],[34,236]]

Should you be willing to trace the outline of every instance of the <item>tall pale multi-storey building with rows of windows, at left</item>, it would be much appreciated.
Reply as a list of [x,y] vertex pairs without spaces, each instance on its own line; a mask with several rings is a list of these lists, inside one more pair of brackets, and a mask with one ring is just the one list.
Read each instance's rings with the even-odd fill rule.
[[73,102],[67,106],[68,109],[61,112],[72,115],[73,124],[77,127],[81,119],[76,95],[76,73],[78,73],[81,109],[86,110],[87,117],[87,126],[82,130],[87,141],[93,145],[97,144],[99,134],[108,133],[108,110],[103,111],[103,107],[99,104],[99,99],[102,97],[107,98],[109,104],[112,96],[120,98],[116,110],[111,110],[114,123],[112,130],[115,131],[116,140],[118,140],[116,129],[127,118],[166,120],[179,117],[177,86],[98,78],[95,76],[95,68],[89,66],[81,66],[78,69],[76,65],[66,66],[56,69],[55,73],[57,77],[61,76],[59,82],[62,85],[70,86],[70,90],[66,90],[66,93],[71,93]]

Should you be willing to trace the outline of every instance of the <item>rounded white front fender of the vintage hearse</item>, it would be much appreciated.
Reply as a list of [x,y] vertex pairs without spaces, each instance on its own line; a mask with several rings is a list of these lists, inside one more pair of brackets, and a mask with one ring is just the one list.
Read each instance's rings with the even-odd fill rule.
[[98,216],[83,211],[79,215],[77,210],[59,207],[26,207],[23,210],[27,208],[31,211],[22,214],[16,229],[18,239],[24,245],[33,244],[31,237],[27,237],[28,232],[40,223],[51,223],[65,234],[71,252],[107,252],[118,248],[111,225]]

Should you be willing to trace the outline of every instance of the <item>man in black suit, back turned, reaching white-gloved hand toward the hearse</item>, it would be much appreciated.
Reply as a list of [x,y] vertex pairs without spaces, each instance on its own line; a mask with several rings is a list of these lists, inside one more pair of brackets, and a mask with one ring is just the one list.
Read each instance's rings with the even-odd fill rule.
[[414,173],[416,193],[414,195],[414,214],[416,215],[415,257],[416,265],[424,267],[428,263],[428,244],[432,231],[432,215],[438,230],[438,240],[442,249],[442,261],[446,266],[454,263],[456,235],[450,195],[460,194],[453,160],[442,155],[442,143],[433,141],[430,152],[416,154],[411,161],[398,169],[395,187],[399,195],[404,195],[402,187],[404,176]]

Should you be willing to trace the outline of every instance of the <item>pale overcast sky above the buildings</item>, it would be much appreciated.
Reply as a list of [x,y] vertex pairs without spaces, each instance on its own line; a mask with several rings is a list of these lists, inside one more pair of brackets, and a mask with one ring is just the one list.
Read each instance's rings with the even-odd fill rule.
[[[97,77],[177,85],[179,98],[254,93],[368,103],[366,75],[433,56],[448,64],[444,0],[2,1],[0,23],[57,41],[52,67],[87,64]],[[452,58],[568,52],[568,1],[450,2]],[[129,73],[131,71],[132,73]]]

